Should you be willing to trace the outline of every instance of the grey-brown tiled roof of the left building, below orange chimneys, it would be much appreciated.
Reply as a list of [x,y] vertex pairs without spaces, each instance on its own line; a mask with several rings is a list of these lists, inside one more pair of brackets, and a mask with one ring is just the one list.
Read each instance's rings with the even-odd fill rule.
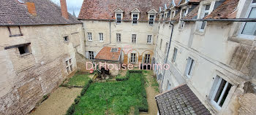
[[23,0],[33,2],[36,16],[29,13],[26,4],[17,0],[0,0],[0,25],[55,25],[81,23],[76,17],[69,15],[66,20],[61,15],[61,8],[50,0]]

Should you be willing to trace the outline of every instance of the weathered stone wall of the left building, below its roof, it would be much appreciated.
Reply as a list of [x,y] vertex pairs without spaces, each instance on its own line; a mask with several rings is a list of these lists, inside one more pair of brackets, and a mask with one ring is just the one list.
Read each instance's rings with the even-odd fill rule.
[[[77,69],[75,54],[85,52],[83,27],[20,26],[20,31],[18,26],[12,28],[12,33],[21,31],[23,36],[10,37],[7,26],[0,27],[0,114],[27,114]],[[64,36],[68,36],[68,41]],[[17,45],[28,43],[30,52],[20,55]],[[72,70],[67,72],[69,59]]]

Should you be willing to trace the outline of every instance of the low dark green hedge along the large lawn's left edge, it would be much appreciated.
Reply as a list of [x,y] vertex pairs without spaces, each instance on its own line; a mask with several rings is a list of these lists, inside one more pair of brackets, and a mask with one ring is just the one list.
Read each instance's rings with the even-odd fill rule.
[[84,87],[83,87],[83,90],[81,91],[80,95],[78,95],[77,98],[75,98],[74,100],[74,103],[72,103],[72,105],[69,107],[69,109],[67,110],[67,113],[66,115],[72,115],[74,114],[75,112],[75,106],[79,103],[80,99],[81,99],[81,96],[83,96],[84,94],[86,94],[86,90],[90,87],[90,84],[92,83],[93,81],[90,79],[88,84],[86,84]]

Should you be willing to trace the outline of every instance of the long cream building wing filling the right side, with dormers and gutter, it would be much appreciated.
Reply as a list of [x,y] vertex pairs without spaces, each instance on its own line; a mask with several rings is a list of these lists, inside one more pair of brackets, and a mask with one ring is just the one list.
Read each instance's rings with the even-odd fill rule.
[[183,92],[185,86],[200,100],[197,105],[187,92],[180,95],[194,114],[207,112],[200,103],[211,114],[256,114],[255,4],[255,0],[173,0],[159,12],[154,63],[170,66],[154,70],[163,92],[156,97],[159,114],[177,109],[168,108],[170,102],[162,97]]

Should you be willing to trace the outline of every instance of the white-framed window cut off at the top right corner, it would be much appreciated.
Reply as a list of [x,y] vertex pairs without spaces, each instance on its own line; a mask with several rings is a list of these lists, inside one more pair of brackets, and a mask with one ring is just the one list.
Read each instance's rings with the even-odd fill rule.
[[[256,0],[252,0],[247,14],[247,18],[256,18]],[[242,35],[252,36],[253,39],[255,38],[253,36],[256,36],[256,22],[246,22],[242,27]]]

